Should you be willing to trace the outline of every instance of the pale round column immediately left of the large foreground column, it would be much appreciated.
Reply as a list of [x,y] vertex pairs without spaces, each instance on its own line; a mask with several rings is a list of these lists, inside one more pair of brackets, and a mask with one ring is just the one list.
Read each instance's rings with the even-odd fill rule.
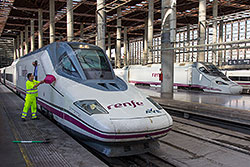
[[148,1],[148,63],[153,63],[154,0]]

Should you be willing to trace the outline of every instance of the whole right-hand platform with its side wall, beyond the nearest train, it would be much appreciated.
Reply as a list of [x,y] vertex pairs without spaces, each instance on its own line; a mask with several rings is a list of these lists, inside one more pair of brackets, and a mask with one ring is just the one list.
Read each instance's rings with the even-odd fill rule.
[[162,98],[160,88],[138,89],[166,109],[250,125],[250,96],[174,90],[173,99]]

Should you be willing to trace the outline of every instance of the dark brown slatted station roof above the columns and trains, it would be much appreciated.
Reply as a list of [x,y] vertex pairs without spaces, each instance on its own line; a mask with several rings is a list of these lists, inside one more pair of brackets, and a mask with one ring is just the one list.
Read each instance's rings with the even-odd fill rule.
[[[55,0],[56,40],[66,40],[67,0]],[[80,36],[80,25],[84,24],[84,40],[95,42],[96,0],[73,0],[74,34]],[[107,32],[111,33],[112,44],[116,38],[117,8],[122,6],[122,26],[128,27],[128,38],[142,37],[145,18],[148,15],[148,1],[145,0],[106,0]],[[177,0],[177,28],[198,23],[199,0]],[[4,0],[0,1],[0,38],[16,38],[24,31],[30,20],[35,20],[35,32],[38,29],[38,8],[43,10],[44,44],[49,43],[49,0]],[[161,0],[154,0],[154,34],[160,34]],[[212,19],[212,0],[207,0],[207,19]],[[244,12],[250,17],[249,0],[219,0],[218,16]],[[241,14],[232,17],[240,17]],[[223,18],[222,18],[223,19]],[[231,18],[232,19],[232,18]],[[37,34],[37,33],[36,33]],[[107,38],[106,38],[107,39]],[[37,43],[36,43],[37,45]],[[2,44],[0,43],[0,47]]]

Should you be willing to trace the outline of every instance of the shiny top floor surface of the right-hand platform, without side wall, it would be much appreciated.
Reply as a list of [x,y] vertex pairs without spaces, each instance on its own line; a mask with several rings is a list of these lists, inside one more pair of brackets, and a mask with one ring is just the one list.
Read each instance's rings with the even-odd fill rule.
[[[161,97],[160,88],[139,87],[138,89],[146,95]],[[201,91],[174,90],[173,99],[184,102],[212,104],[229,108],[250,110],[250,95],[227,95]]]

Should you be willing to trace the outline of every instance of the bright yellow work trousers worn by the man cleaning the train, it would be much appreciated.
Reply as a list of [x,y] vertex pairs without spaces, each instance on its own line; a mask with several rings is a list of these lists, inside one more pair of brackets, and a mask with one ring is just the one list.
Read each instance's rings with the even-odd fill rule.
[[26,96],[25,98],[25,104],[22,112],[22,118],[27,117],[27,113],[29,111],[29,108],[31,107],[31,113],[32,113],[32,119],[37,118],[36,111],[36,97],[35,96]]

